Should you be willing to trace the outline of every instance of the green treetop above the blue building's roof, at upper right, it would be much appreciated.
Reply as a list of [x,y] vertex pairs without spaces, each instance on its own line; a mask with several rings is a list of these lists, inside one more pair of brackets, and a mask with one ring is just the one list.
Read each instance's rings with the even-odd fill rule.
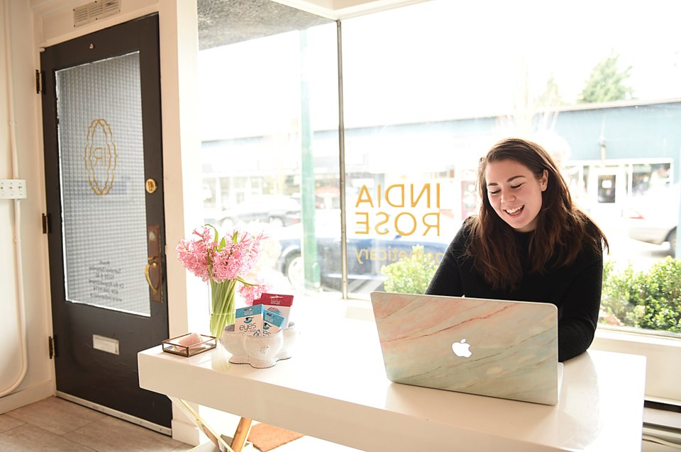
[[596,64],[577,100],[579,103],[622,101],[631,98],[632,89],[624,84],[626,79],[629,79],[631,66],[619,71],[618,59],[619,54],[612,52],[609,57]]

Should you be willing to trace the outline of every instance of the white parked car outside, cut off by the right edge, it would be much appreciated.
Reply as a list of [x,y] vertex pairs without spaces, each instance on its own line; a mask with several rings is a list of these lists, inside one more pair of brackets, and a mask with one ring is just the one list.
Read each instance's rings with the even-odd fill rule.
[[668,242],[672,257],[676,256],[680,200],[679,184],[633,198],[626,213],[629,237],[658,245]]

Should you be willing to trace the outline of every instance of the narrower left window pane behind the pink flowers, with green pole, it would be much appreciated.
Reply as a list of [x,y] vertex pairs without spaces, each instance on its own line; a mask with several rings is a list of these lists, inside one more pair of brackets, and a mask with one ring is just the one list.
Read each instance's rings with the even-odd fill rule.
[[267,0],[213,7],[199,27],[204,220],[270,236],[258,277],[272,290],[338,290],[336,23]]

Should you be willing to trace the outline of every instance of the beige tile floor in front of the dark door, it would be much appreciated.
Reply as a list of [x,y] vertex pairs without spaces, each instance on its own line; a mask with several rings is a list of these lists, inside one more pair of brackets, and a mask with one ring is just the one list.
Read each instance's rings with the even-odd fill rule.
[[57,397],[0,414],[2,452],[184,452],[191,448]]

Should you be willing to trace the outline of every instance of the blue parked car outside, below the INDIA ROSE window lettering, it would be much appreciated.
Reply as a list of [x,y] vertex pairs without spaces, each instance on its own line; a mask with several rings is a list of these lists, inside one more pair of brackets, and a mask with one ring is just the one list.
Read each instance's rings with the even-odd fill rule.
[[[301,225],[282,230],[279,237],[282,253],[277,270],[289,279],[294,288],[304,287],[304,262],[301,254]],[[348,232],[348,286],[351,292],[368,293],[382,290],[381,268],[400,257],[411,254],[414,245],[423,245],[436,262],[442,259],[451,237],[427,239],[422,236],[356,235]],[[341,233],[339,217],[316,223],[316,256],[320,285],[329,290],[341,290]]]

